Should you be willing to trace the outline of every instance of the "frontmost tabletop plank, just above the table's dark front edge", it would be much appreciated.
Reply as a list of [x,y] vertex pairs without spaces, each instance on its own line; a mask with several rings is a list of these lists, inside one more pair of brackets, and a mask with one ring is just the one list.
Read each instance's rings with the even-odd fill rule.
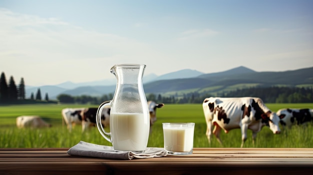
[[[199,167],[199,166],[207,166],[207,167],[225,167],[225,166],[236,166],[236,167],[310,167],[313,169],[312,161],[308,160],[302,160],[302,159],[294,159],[291,161],[286,161],[283,159],[259,159],[257,161],[252,161],[253,159],[244,159],[244,160],[225,160],[225,159],[203,159],[202,161],[192,161],[192,159],[188,161],[179,161],[179,160],[172,160],[172,161],[165,161],[164,159],[160,159],[159,161],[110,161],[110,160],[102,160],[98,162],[59,162],[57,160],[51,160],[51,161],[42,161],[37,160],[34,162],[23,162],[23,161],[17,161],[17,162],[1,162],[0,163],[0,170],[2,168],[10,169],[10,170],[28,170],[28,169],[36,169],[38,171],[40,170],[52,170],[52,169],[59,169],[59,170],[80,170],[84,168],[90,168],[92,169],[94,167],[101,167],[99,165],[109,165],[109,166],[116,166],[116,167],[150,167],[159,165],[162,167],[172,167],[172,166],[189,166],[189,167]],[[36,165],[34,168],[33,166]],[[54,167],[53,167],[54,166]],[[88,167],[89,166],[89,167]]]

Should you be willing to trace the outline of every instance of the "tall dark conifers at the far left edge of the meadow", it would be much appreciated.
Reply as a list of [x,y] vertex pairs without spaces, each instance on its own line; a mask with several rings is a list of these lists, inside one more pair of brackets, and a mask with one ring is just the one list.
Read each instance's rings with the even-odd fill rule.
[[[4,72],[0,76],[0,104],[20,104],[35,103],[42,101],[40,88],[37,89],[35,96],[31,92],[30,98],[25,98],[25,83],[21,77],[18,86],[16,86],[13,76],[10,76],[8,83],[6,82]],[[45,93],[44,101],[48,102],[48,93]]]

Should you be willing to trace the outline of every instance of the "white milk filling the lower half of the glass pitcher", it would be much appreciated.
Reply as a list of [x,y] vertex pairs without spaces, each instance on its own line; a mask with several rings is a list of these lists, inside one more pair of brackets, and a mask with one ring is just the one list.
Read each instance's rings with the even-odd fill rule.
[[144,151],[149,138],[149,114],[110,113],[110,132],[115,151]]

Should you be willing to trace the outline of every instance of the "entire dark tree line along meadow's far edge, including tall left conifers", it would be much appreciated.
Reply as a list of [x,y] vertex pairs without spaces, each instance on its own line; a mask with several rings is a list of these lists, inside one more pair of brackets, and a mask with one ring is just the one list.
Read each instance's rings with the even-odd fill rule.
[[[184,104],[184,103],[202,103],[207,97],[259,97],[265,103],[313,103],[313,88],[312,87],[251,87],[246,89],[237,89],[222,93],[198,93],[190,92],[182,95],[162,96],[161,94],[146,94],[147,101],[153,100],[157,103],[167,104]],[[77,103],[77,104],[100,104],[103,101],[111,100],[113,94],[106,94],[100,97],[88,95],[70,96],[68,94],[60,94],[57,101],[50,101],[48,94],[45,93],[44,99],[41,98],[40,88],[37,89],[34,95],[31,92],[30,98],[25,98],[25,83],[21,78],[18,86],[15,85],[13,76],[10,76],[8,83],[4,72],[0,76],[0,104],[20,104],[20,103],[38,103],[38,102],[53,102],[53,103]]]

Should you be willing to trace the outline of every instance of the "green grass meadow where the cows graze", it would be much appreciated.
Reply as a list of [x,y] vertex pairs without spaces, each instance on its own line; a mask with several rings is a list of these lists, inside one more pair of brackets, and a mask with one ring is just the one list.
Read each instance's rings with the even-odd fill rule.
[[[273,112],[280,108],[313,108],[311,103],[302,104],[266,104]],[[81,126],[75,126],[68,132],[62,125],[61,109],[72,107],[97,107],[92,105],[38,104],[38,105],[7,105],[0,106],[0,148],[69,148],[79,141],[111,146],[99,134],[96,128],[81,133]],[[193,147],[240,147],[241,134],[239,129],[228,134],[221,132],[220,145],[214,136],[208,144],[205,136],[206,123],[201,104],[165,104],[157,109],[157,121],[151,127],[148,147],[163,147],[162,122],[194,122]],[[17,129],[15,119],[21,115],[38,115],[52,124],[51,128]],[[248,139],[244,147],[255,148],[311,148],[313,147],[313,124],[282,128],[281,134],[274,135],[268,127],[263,127],[252,144],[252,132],[248,130]],[[108,128],[106,129],[108,130]]]

